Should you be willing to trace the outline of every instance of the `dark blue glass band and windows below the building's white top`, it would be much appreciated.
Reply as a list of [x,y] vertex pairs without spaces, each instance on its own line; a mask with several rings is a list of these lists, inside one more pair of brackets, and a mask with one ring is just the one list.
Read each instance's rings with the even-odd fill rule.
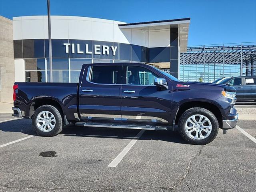
[[[177,38],[174,38],[172,44],[176,46],[177,41]],[[49,82],[48,39],[14,40],[14,59],[16,58],[25,60],[27,82]],[[117,42],[52,39],[54,82],[77,82],[83,64],[114,62],[149,64],[167,62],[170,64],[170,58],[177,60],[177,47],[147,48]],[[144,78],[149,78],[148,74],[143,74]]]

